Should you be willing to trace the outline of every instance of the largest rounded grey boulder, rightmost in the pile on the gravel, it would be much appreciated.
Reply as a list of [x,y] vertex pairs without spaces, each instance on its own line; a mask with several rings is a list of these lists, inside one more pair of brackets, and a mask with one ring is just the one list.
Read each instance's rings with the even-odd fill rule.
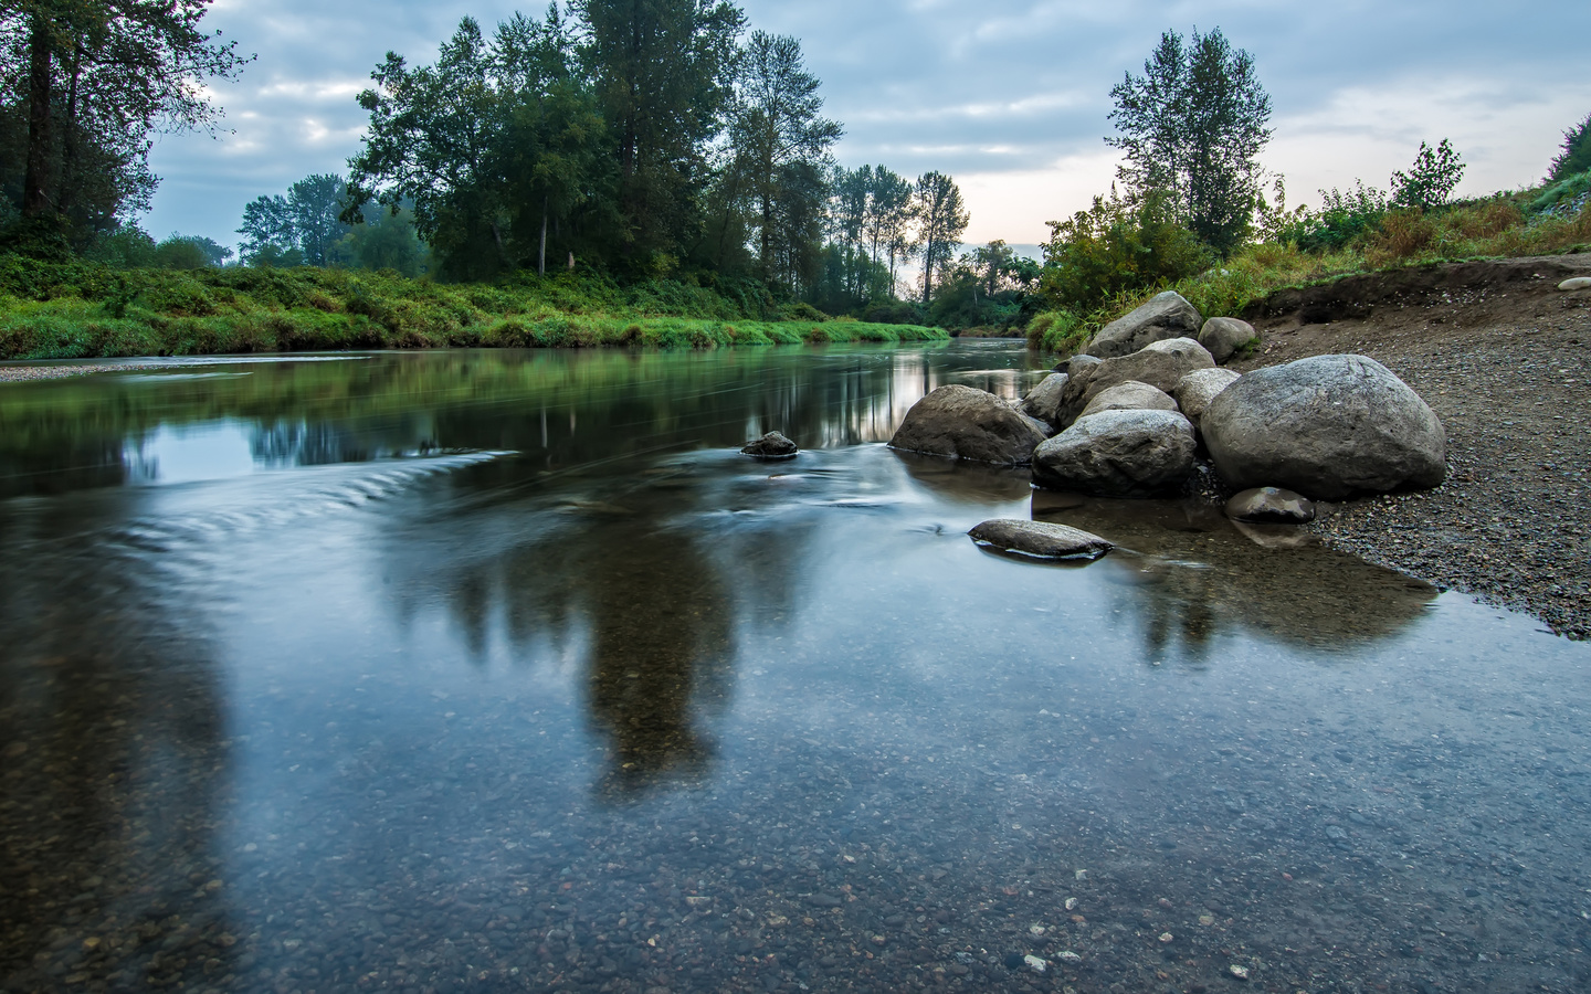
[[1441,421],[1368,356],[1257,369],[1220,391],[1200,428],[1238,490],[1286,487],[1325,501],[1435,487],[1448,472]]

